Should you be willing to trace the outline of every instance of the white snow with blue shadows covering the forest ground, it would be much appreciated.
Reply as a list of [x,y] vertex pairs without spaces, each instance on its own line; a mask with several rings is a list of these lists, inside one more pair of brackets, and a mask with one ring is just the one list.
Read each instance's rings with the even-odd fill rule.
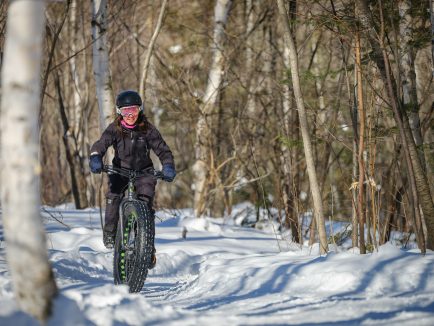
[[[434,325],[432,251],[395,241],[360,255],[343,242],[321,256],[318,244],[282,239],[276,224],[242,226],[250,208],[225,219],[157,212],[157,266],[130,294],[113,285],[99,210],[44,207],[60,289],[48,325]],[[14,300],[2,228],[0,240],[0,325],[37,325]]]

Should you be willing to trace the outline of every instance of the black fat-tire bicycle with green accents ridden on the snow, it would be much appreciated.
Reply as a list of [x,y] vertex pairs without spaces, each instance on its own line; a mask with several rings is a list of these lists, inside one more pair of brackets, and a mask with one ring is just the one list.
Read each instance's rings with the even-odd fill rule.
[[144,176],[163,179],[163,173],[153,168],[134,171],[111,165],[105,165],[103,172],[128,178],[127,196],[119,207],[113,254],[114,283],[127,284],[131,293],[140,292],[152,265],[155,221],[147,203],[137,199],[134,181]]

